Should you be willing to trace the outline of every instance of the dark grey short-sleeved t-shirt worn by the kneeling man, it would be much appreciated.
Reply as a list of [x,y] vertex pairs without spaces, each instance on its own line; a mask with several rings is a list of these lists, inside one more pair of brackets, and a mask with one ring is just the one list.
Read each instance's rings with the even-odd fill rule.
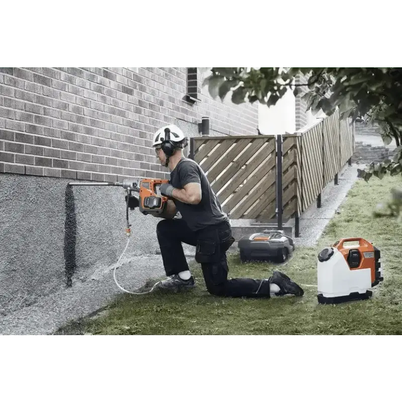
[[191,230],[203,229],[206,226],[228,220],[228,216],[222,211],[218,197],[211,188],[206,174],[192,159],[181,159],[170,172],[169,182],[173,187],[179,189],[191,182],[201,184],[202,198],[199,204],[185,204],[173,198],[177,211]]

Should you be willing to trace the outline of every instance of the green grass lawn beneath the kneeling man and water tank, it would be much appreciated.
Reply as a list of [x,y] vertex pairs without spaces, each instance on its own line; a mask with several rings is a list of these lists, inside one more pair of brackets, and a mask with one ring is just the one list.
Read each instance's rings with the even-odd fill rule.
[[[299,284],[317,285],[317,254],[345,237],[363,237],[381,251],[384,281],[370,300],[319,305],[317,287],[303,286],[303,297],[232,299],[210,295],[195,265],[196,289],[178,294],[123,294],[92,319],[59,334],[93,335],[402,335],[402,226],[395,218],[372,218],[400,177],[359,180],[314,248],[297,248],[284,265],[241,264],[230,255],[230,276],[267,278],[279,269]],[[323,200],[325,203],[325,199]],[[303,233],[302,233],[303,236]]]

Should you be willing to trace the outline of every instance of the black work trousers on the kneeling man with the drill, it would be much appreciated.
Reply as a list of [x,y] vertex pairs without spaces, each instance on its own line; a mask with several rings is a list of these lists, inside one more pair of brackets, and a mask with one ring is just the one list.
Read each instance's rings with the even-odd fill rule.
[[229,222],[191,231],[183,219],[158,222],[156,234],[167,276],[188,270],[181,243],[196,247],[195,260],[201,265],[207,289],[211,294],[229,297],[270,297],[267,280],[228,279],[226,251],[233,244]]

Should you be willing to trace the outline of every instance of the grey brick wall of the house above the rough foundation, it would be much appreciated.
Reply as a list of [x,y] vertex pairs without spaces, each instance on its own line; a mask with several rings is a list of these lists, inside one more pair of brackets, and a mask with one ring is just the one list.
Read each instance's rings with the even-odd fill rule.
[[[0,173],[117,181],[166,177],[150,148],[165,124],[210,118],[224,135],[257,134],[258,106],[222,104],[186,65],[15,65],[0,69]],[[192,129],[192,132],[197,132]]]

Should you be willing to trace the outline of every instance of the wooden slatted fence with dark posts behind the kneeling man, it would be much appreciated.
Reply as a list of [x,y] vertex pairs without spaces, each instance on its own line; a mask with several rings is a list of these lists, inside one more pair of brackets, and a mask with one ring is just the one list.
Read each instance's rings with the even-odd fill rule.
[[231,219],[259,222],[295,218],[335,180],[354,153],[354,134],[339,113],[323,119],[305,133],[195,137],[190,155],[203,168],[224,211]]

